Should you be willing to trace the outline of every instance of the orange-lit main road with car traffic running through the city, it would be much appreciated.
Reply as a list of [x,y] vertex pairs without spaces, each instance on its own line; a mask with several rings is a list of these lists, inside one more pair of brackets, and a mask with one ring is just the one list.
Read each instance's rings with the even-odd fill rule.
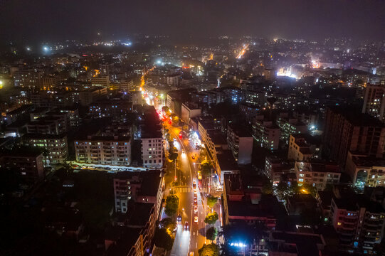
[[[197,171],[199,170],[199,164],[194,164],[197,159],[193,160],[191,156],[198,154],[198,151],[194,149],[189,139],[179,139],[179,128],[171,125],[167,128],[172,137],[176,138],[174,146],[179,151],[177,166],[181,170],[176,172],[178,185],[176,186],[176,194],[179,196],[179,212],[182,213],[182,221],[176,232],[171,255],[189,255],[189,252],[198,255],[199,248],[206,242],[204,218],[206,217],[207,206],[203,195],[208,190],[196,186],[197,212],[194,213],[194,188],[192,184],[193,181],[198,182]],[[182,149],[184,149],[185,154],[181,154]],[[196,216],[198,217],[198,223],[194,222]],[[186,221],[189,223],[189,230],[184,230]]]

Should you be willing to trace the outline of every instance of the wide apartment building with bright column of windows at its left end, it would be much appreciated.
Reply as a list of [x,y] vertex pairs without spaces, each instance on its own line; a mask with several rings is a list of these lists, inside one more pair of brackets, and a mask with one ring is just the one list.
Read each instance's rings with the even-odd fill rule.
[[295,161],[294,170],[298,186],[307,184],[321,191],[339,183],[342,172],[338,164],[308,161]]

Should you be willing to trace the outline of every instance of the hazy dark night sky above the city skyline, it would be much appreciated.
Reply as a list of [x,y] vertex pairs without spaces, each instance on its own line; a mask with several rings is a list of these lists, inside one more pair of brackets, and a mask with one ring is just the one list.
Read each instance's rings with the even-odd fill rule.
[[0,0],[0,41],[105,38],[385,38],[384,0]]

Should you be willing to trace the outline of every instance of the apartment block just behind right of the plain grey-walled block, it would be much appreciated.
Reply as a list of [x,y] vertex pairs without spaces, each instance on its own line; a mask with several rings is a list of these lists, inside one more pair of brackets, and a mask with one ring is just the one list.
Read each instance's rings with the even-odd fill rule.
[[257,116],[252,124],[252,129],[258,146],[271,151],[279,149],[280,127],[273,121],[264,120],[263,116]]

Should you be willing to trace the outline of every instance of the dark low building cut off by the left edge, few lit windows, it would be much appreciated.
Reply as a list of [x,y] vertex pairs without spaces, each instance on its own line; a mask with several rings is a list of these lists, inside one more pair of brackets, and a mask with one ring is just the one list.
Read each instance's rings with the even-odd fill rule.
[[0,165],[18,171],[24,181],[36,182],[44,177],[43,154],[31,149],[2,151]]

